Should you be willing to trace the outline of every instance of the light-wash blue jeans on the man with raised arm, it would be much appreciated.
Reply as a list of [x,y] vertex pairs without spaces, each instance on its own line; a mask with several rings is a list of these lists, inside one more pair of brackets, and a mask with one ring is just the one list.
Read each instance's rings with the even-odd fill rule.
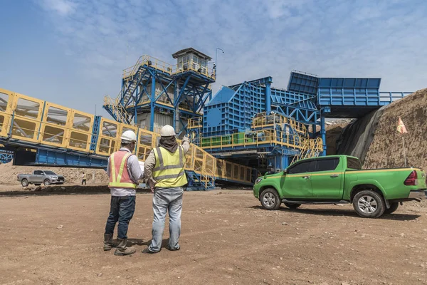
[[153,196],[153,229],[150,252],[159,252],[162,247],[162,237],[166,212],[169,211],[169,248],[179,249],[179,234],[181,234],[182,187],[157,188]]

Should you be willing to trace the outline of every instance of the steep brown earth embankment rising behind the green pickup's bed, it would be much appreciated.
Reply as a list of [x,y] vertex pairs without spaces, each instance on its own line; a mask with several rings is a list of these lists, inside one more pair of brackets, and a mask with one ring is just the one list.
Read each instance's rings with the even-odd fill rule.
[[396,131],[399,117],[404,134],[408,166],[427,170],[427,88],[391,103],[384,109],[374,133],[364,168],[404,167],[402,135]]

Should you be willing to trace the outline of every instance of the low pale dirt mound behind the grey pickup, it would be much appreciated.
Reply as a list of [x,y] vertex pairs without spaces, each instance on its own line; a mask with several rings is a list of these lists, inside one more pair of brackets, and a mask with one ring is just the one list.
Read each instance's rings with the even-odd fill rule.
[[[80,184],[82,174],[86,172],[88,184],[107,184],[108,176],[105,170],[68,168],[68,167],[45,167],[45,166],[19,166],[12,165],[12,162],[0,165],[0,185],[19,185],[17,176],[19,174],[33,173],[34,170],[51,170],[58,175],[65,177],[66,184]],[[93,179],[95,177],[95,180]]]

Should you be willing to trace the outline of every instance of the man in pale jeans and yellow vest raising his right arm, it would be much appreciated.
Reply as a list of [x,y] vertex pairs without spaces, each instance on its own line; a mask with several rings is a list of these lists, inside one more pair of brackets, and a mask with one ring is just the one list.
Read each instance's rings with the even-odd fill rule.
[[143,253],[160,252],[166,212],[169,210],[169,244],[167,249],[179,250],[181,234],[182,195],[186,185],[184,172],[185,155],[190,148],[189,139],[184,137],[182,145],[178,145],[175,130],[165,125],[160,130],[159,147],[154,148],[145,160],[145,177],[154,192],[153,196],[153,228],[152,241]]

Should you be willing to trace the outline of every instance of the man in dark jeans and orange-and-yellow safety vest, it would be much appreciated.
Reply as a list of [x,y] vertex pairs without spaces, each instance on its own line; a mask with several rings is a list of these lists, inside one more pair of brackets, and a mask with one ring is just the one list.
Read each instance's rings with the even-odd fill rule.
[[115,255],[134,254],[137,250],[127,247],[127,229],[135,212],[135,194],[138,180],[144,172],[139,167],[138,158],[132,155],[137,142],[137,135],[127,130],[120,138],[120,150],[112,153],[108,158],[107,175],[110,177],[108,187],[111,192],[110,215],[105,225],[104,250],[112,248],[112,235],[115,224],[117,226],[117,249]]

